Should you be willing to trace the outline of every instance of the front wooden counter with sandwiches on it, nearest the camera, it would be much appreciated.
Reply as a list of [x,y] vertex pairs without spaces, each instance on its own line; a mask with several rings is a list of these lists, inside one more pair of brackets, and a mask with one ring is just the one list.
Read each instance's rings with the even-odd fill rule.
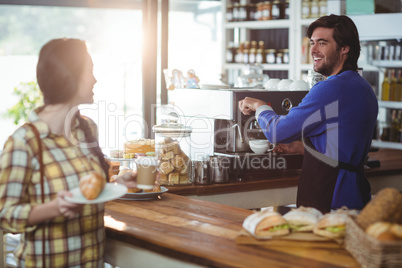
[[175,268],[358,267],[335,242],[309,242],[307,247],[295,242],[238,245],[235,238],[250,210],[169,193],[160,197],[106,203],[108,263]]

